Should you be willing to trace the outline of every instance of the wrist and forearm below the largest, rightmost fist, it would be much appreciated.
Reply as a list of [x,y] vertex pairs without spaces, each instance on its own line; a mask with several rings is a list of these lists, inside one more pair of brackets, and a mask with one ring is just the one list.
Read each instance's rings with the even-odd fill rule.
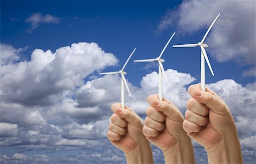
[[238,137],[226,138],[207,149],[209,164],[243,163],[241,146]]

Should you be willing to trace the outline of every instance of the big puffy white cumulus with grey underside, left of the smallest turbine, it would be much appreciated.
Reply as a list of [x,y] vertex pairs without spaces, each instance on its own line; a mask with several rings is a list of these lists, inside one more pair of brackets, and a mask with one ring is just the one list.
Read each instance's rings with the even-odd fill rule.
[[[11,46],[9,46],[11,47]],[[78,43],[61,47],[55,53],[35,49],[31,61],[13,65],[0,79],[0,99],[24,106],[48,106],[64,90],[73,90],[87,75],[117,64],[112,53],[96,43]],[[6,65],[1,69],[6,69]]]

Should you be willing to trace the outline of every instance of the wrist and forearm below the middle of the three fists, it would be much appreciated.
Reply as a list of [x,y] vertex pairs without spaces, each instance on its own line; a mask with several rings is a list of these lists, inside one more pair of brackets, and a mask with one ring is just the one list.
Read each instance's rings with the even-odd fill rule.
[[172,148],[164,151],[166,164],[172,163],[196,163],[193,153],[193,145],[189,137],[177,142]]

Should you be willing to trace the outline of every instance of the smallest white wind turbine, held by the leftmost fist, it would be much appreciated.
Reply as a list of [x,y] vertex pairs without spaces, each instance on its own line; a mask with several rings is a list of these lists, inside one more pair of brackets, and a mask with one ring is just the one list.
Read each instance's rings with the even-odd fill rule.
[[[105,73],[100,73],[100,74],[121,74],[121,105],[122,108],[125,108],[125,87],[127,91],[129,92],[129,95],[131,96],[131,92],[129,90],[129,87],[127,85],[125,75],[127,74],[123,70],[125,69],[125,66],[127,65],[128,61],[130,60],[131,56],[133,56],[133,53],[135,52],[136,48],[134,48],[133,52],[130,54],[129,58],[126,60],[125,65],[123,65],[123,68],[119,70],[118,72],[105,72]],[[124,87],[125,85],[125,87]]]

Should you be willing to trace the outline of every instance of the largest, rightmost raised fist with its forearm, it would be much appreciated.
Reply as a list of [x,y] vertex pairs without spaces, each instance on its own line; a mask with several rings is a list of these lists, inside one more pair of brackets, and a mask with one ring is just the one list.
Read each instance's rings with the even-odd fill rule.
[[200,85],[188,88],[183,128],[207,150],[209,163],[243,163],[240,141],[233,116],[225,102],[213,91]]

